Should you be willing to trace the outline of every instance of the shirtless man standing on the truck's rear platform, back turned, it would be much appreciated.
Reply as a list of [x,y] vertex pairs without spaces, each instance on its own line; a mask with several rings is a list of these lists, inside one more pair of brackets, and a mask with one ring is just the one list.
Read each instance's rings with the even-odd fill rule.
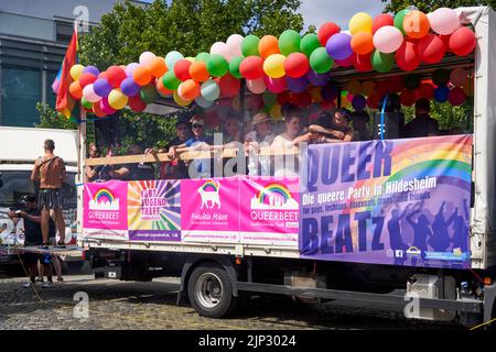
[[46,140],[43,144],[45,155],[34,163],[31,180],[40,182],[40,208],[41,208],[41,227],[43,243],[42,249],[48,249],[50,232],[50,210],[55,213],[55,223],[58,229],[61,240],[58,248],[65,248],[65,221],[62,213],[64,206],[64,194],[62,191],[62,183],[66,178],[64,161],[54,155],[55,142]]

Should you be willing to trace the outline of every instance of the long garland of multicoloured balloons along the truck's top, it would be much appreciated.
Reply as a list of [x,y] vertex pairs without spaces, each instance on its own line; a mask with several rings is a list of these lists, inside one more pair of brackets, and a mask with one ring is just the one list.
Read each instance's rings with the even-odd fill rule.
[[[351,19],[346,32],[327,22],[316,34],[304,36],[292,30],[279,38],[233,34],[225,43],[213,44],[209,53],[196,57],[184,57],[176,51],[165,57],[144,52],[139,63],[114,65],[105,72],[75,65],[71,68],[69,94],[97,117],[126,107],[143,111],[159,95],[173,97],[180,106],[196,102],[202,108],[227,97],[239,109],[236,96],[240,79],[245,78],[247,88],[260,97],[258,102],[252,99],[250,106],[261,106],[278,119],[284,103],[334,107],[338,90],[328,85],[334,67],[388,73],[396,63],[400,69],[411,72],[421,63],[439,63],[449,52],[467,56],[475,46],[475,33],[462,25],[452,9],[441,8],[428,14],[406,9],[375,19],[359,12]],[[353,80],[346,87],[342,105],[356,110],[366,106],[376,108],[384,94],[395,91],[400,94],[405,106],[420,97],[457,106],[472,89],[466,70],[440,69],[429,81],[421,81],[418,75],[393,77],[387,84]],[[63,111],[67,116],[66,112]]]

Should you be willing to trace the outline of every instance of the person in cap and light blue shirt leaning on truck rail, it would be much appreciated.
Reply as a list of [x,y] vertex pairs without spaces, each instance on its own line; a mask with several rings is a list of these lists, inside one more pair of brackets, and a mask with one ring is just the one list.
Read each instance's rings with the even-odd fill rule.
[[[191,119],[191,131],[193,133],[192,138],[185,141],[183,144],[180,145],[172,145],[169,150],[169,154],[171,158],[177,160],[177,152],[179,150],[209,150],[212,148],[212,145],[214,144],[214,141],[211,136],[205,134],[205,120],[202,119],[200,116],[194,116]],[[200,177],[207,177],[211,174],[211,167],[209,167],[209,160],[194,160],[191,161],[191,163],[185,163],[185,165],[190,166],[188,175],[190,176],[200,176]],[[193,175],[191,172],[194,172]]]

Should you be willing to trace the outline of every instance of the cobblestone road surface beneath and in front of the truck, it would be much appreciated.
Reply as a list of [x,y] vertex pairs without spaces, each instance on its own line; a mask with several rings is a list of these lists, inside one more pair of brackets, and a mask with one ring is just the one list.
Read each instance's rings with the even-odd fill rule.
[[[229,319],[200,317],[175,305],[179,284],[164,278],[151,283],[66,276],[64,283],[36,292],[23,288],[23,277],[0,273],[0,329],[463,329],[451,323],[407,321],[400,314],[332,305],[298,305],[289,298],[258,298]],[[88,294],[89,318],[76,319],[73,300]]]

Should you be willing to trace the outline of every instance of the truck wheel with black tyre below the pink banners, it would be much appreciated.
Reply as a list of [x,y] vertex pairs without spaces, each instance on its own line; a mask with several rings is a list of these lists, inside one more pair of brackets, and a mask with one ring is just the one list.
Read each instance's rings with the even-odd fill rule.
[[208,318],[228,316],[238,305],[229,275],[214,263],[202,264],[193,271],[187,280],[187,297],[193,308]]

